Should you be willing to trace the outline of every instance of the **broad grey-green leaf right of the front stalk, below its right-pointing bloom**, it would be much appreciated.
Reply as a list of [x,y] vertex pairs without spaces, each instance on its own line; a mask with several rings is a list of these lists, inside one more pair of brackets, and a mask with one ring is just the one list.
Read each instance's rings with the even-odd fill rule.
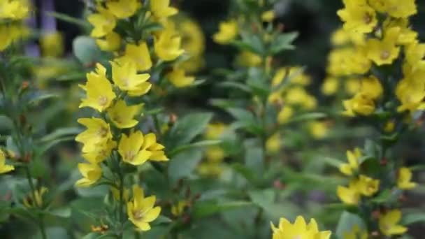
[[192,175],[192,172],[198,166],[202,158],[202,152],[199,149],[192,148],[180,152],[175,157],[170,159],[168,166],[168,175],[174,182],[180,178],[187,178]]

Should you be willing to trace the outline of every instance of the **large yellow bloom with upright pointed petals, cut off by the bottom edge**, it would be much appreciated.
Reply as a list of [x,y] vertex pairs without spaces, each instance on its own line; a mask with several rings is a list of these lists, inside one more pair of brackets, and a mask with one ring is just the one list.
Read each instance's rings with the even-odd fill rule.
[[271,223],[271,229],[273,231],[273,239],[331,238],[331,231],[319,231],[315,219],[310,219],[310,222],[306,224],[304,217],[301,216],[296,217],[294,224],[291,224],[291,222],[285,218],[281,218],[278,228]]

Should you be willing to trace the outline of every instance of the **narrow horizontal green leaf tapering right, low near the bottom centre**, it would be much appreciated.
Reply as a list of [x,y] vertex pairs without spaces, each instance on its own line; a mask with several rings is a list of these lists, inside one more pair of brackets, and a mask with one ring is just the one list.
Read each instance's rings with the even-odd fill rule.
[[215,215],[218,212],[233,210],[236,208],[243,208],[252,205],[247,201],[229,201],[229,202],[218,202],[218,201],[200,201],[195,203],[193,208],[194,219],[201,219]]

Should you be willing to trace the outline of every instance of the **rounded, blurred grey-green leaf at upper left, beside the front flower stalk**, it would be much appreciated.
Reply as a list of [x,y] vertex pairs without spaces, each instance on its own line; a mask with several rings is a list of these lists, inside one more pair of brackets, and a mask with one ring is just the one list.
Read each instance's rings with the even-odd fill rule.
[[101,50],[89,36],[78,36],[74,39],[73,53],[85,65],[93,64],[101,58]]

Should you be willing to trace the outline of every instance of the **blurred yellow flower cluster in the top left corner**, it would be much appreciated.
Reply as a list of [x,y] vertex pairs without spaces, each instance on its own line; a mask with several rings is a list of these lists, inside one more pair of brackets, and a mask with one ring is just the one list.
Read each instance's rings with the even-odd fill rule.
[[29,16],[30,6],[28,0],[3,0],[0,1],[0,50],[28,34],[23,21]]

